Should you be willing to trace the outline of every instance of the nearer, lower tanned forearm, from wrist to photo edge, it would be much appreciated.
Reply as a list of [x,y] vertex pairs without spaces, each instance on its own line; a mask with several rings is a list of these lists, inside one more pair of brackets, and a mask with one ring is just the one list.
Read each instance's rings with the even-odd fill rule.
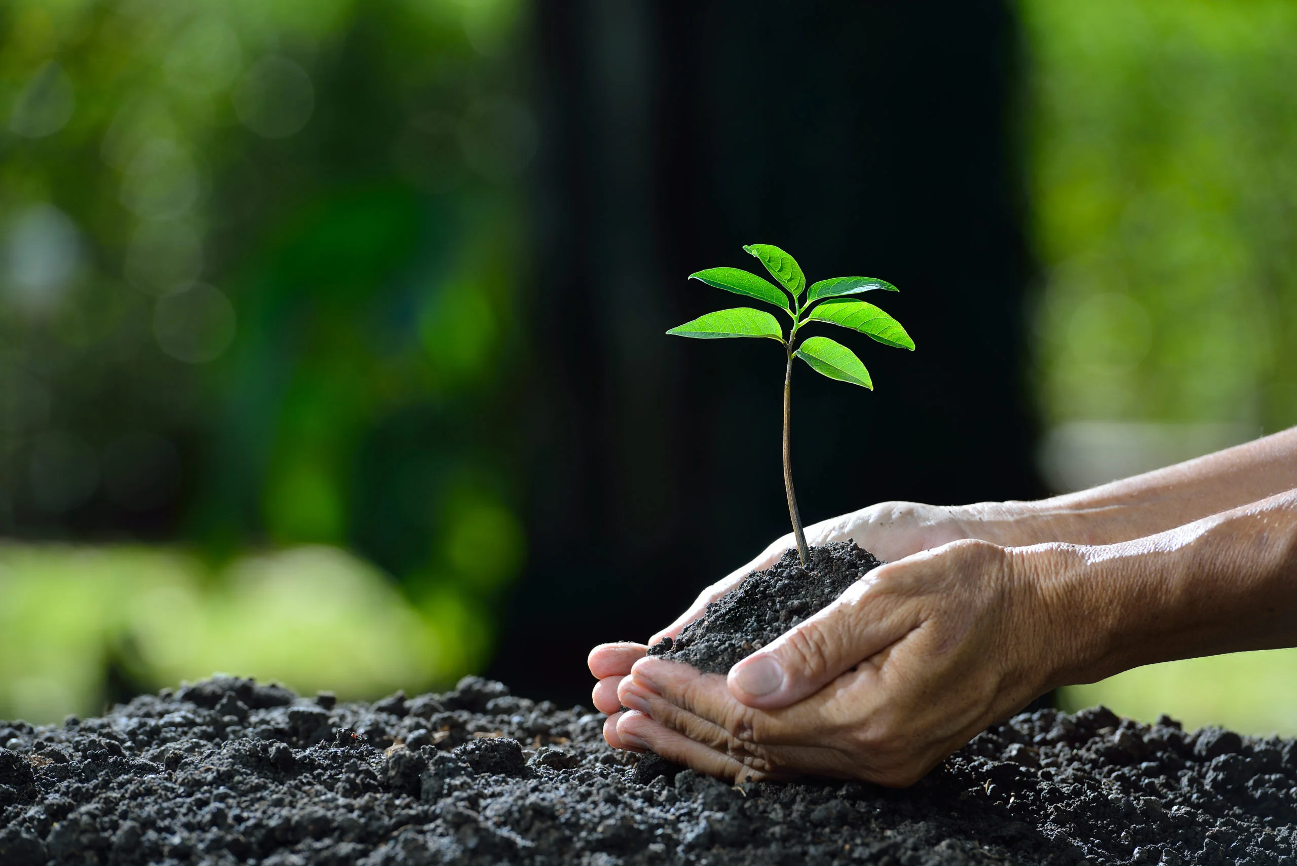
[[1016,555],[1039,569],[1061,635],[1054,685],[1297,646],[1297,490],[1131,542]]

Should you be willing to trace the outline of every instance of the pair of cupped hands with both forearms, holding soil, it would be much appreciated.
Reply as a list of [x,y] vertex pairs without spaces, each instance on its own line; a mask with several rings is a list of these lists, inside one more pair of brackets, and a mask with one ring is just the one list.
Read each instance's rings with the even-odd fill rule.
[[[852,538],[888,563],[728,678],[645,644],[597,647],[604,736],[734,780],[905,786],[1052,687],[1294,646],[1291,482],[1297,430],[1039,503],[882,503],[817,524],[812,544]],[[704,590],[652,640],[790,546]]]

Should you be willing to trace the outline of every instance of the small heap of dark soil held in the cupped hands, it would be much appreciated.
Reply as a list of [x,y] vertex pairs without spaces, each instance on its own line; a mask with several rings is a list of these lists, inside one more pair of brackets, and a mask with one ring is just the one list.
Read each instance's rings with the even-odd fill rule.
[[811,569],[790,550],[764,572],[752,572],[707,605],[674,640],[664,638],[650,656],[684,661],[703,673],[728,674],[744,659],[807,617],[829,607],[848,586],[882,565],[855,542],[811,548]]

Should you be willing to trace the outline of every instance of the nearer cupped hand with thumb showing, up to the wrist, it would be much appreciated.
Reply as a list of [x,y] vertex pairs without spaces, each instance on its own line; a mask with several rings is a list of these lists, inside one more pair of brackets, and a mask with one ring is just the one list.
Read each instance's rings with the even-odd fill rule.
[[1053,685],[1067,548],[960,541],[870,572],[729,677],[638,657],[608,742],[732,780],[905,786]]

